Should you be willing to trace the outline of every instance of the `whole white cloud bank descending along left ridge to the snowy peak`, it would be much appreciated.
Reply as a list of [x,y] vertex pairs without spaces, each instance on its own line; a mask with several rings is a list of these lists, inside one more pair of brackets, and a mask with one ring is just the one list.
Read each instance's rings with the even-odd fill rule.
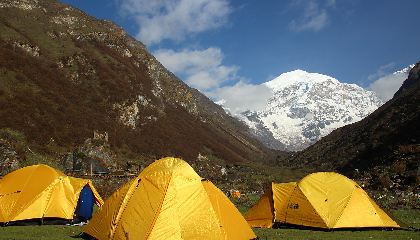
[[247,84],[243,79],[234,86],[221,87],[223,83],[239,79],[236,76],[239,67],[222,65],[224,56],[218,47],[205,50],[185,48],[178,52],[160,49],[153,55],[173,73],[187,75],[184,82],[190,87],[215,101],[226,100],[224,105],[232,114],[246,110],[262,111],[272,95],[267,86]]

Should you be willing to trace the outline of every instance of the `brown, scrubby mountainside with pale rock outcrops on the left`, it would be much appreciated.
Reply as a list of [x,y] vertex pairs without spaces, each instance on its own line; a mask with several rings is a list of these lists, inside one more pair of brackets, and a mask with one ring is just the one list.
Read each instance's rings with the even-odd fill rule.
[[0,0],[0,20],[0,128],[45,152],[72,151],[99,129],[127,161],[287,155],[253,139],[112,21],[55,0]]

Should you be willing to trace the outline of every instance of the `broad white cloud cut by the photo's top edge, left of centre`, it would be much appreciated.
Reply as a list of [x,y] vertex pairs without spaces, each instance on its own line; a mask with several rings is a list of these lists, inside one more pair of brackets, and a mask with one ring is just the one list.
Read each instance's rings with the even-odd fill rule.
[[120,13],[136,19],[136,39],[146,45],[224,26],[232,8],[226,0],[120,0]]

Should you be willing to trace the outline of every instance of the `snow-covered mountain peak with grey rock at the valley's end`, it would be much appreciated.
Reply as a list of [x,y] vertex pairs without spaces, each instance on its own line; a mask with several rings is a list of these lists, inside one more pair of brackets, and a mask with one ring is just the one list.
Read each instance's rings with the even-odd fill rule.
[[273,90],[264,111],[235,116],[269,148],[299,151],[334,129],[360,121],[381,99],[356,84],[295,70],[264,83]]

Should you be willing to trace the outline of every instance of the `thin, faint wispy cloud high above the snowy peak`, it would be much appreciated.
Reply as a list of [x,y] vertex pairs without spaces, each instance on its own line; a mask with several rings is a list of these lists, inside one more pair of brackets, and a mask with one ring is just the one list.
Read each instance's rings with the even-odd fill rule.
[[[320,8],[314,0],[293,0],[291,6],[303,8],[303,14],[299,20],[291,21],[290,28],[295,31],[313,30],[317,32],[330,22],[326,9]],[[326,6],[335,7],[335,0],[328,0]]]

